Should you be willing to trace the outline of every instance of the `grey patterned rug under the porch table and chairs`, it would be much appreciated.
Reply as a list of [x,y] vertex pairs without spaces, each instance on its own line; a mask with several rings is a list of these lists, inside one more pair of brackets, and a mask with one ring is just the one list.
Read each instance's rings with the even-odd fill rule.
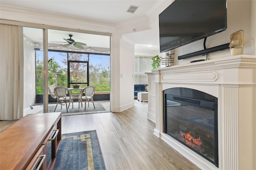
[[[89,104],[89,107],[88,107],[88,103],[87,103],[86,111],[84,111],[84,103],[83,103],[83,107],[81,107],[81,105],[80,105],[80,108],[78,108],[78,105],[74,105],[74,109],[72,109],[72,103],[71,103],[69,106],[68,112],[66,110],[66,105],[62,105],[62,109],[61,109],[61,106],[58,105],[55,112],[61,112],[62,116],[109,112],[109,111],[106,111],[106,109],[102,106],[101,103],[94,103],[94,105],[95,105],[95,109],[94,109],[92,103]],[[55,107],[56,107],[56,105],[48,106],[48,112],[49,113],[54,112]],[[43,110],[38,113],[43,113]]]

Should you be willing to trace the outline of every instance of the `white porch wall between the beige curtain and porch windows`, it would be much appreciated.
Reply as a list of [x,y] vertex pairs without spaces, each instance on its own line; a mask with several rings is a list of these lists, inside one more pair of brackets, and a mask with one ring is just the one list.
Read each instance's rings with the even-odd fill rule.
[[24,40],[24,109],[33,105],[36,101],[36,66],[35,50]]

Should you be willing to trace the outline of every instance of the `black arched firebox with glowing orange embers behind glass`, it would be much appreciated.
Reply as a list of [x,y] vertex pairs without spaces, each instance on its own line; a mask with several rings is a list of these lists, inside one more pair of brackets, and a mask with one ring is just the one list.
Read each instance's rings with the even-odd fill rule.
[[163,96],[164,132],[218,167],[218,98],[182,87]]

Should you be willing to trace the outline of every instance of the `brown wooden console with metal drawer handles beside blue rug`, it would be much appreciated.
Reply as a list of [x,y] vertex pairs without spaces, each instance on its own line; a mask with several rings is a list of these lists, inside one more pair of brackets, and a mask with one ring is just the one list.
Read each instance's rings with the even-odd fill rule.
[[26,115],[0,132],[0,169],[53,169],[60,142],[61,112]]

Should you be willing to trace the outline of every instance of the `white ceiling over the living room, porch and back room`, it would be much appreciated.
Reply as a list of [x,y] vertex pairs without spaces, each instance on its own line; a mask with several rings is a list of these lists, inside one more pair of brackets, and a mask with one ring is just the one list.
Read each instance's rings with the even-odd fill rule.
[[[64,14],[88,18],[93,20],[102,20],[113,23],[122,23],[126,21],[136,20],[146,17],[146,12],[156,6],[161,0],[0,0],[0,5],[16,6],[29,8],[34,10]],[[126,12],[130,6],[138,6],[134,13]],[[31,34],[31,32],[28,32]],[[72,34],[72,39],[76,42],[84,42],[88,46],[109,47],[109,40],[98,41],[98,37],[79,35],[80,33],[71,32],[55,32],[48,33],[48,42],[62,42],[63,38],[68,39],[68,34]],[[150,36],[149,36],[150,35]],[[155,30],[147,30],[142,32],[134,32],[126,34],[126,38],[136,43],[135,50],[157,51],[158,35]],[[31,38],[33,39],[33,38]],[[153,45],[147,47],[146,45]]]

